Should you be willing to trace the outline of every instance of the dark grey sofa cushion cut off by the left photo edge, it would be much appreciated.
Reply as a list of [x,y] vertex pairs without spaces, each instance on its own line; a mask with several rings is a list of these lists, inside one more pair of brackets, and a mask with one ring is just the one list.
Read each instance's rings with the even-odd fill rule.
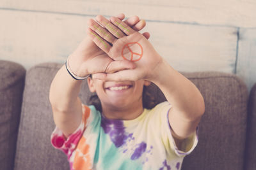
[[0,169],[13,169],[26,70],[0,60]]

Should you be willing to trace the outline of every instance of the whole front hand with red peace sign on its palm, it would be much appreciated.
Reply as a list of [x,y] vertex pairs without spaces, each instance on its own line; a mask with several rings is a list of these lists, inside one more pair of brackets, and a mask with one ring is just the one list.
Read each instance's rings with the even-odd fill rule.
[[150,80],[155,76],[154,69],[162,62],[161,56],[154,50],[151,43],[138,31],[129,27],[117,17],[106,18],[97,16],[97,22],[90,21],[88,34],[93,42],[116,61],[132,61],[134,69],[124,69],[116,73],[97,73],[93,78],[107,81]]

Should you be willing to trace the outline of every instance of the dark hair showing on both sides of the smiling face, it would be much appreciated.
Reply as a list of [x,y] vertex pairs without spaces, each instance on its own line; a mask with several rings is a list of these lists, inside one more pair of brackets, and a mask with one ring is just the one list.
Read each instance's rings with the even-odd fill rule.
[[[143,103],[143,108],[146,108],[146,109],[152,109],[152,108],[154,108],[154,106],[156,106],[155,97],[152,96],[152,94],[150,94],[148,87],[145,85],[143,87],[142,103]],[[88,102],[88,104],[94,105],[97,110],[102,112],[100,99],[97,96],[97,94],[93,94],[90,97],[90,101]]]

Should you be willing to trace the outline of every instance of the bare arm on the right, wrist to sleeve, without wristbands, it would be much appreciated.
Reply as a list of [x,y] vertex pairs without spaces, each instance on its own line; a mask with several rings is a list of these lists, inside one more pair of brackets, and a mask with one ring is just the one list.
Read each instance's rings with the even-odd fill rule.
[[178,148],[180,143],[195,132],[204,114],[204,98],[195,85],[173,69],[165,60],[157,65],[150,79],[163,92],[172,109],[169,123]]

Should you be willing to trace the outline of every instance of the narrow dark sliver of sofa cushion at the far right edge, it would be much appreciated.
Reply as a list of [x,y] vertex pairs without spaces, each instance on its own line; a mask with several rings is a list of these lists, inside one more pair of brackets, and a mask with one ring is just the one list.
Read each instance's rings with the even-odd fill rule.
[[256,83],[252,87],[248,102],[248,127],[246,136],[245,168],[256,169]]

